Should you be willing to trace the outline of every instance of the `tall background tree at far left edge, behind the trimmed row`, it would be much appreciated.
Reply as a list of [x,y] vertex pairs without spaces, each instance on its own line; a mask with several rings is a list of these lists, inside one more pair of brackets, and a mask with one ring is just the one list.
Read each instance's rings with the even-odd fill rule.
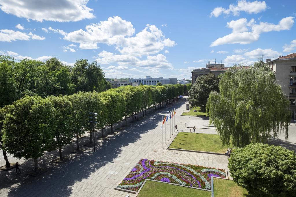
[[0,60],[0,107],[3,107],[17,99],[17,83],[13,79],[14,58],[1,56]]

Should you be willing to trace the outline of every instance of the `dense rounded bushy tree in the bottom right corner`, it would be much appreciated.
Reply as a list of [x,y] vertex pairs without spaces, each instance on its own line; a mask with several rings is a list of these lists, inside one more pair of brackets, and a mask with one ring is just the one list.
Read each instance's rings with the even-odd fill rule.
[[254,196],[296,196],[296,154],[281,146],[249,144],[231,153],[231,177]]

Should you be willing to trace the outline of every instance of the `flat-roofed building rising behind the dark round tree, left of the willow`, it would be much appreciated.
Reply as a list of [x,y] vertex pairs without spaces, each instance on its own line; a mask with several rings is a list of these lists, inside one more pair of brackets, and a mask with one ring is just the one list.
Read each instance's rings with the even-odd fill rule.
[[192,85],[195,83],[197,77],[204,74],[209,74],[210,72],[218,76],[221,73],[224,73],[229,67],[224,67],[224,64],[206,64],[206,68],[194,69],[191,71],[192,74]]

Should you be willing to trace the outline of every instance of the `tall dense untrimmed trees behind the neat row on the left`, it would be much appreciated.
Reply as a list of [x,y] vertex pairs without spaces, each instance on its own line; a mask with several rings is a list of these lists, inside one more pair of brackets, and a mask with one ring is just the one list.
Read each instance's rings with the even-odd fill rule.
[[11,56],[0,56],[0,107],[24,95],[71,95],[79,91],[102,92],[110,87],[96,61],[78,59],[70,67],[55,57],[43,63],[29,59],[16,62]]

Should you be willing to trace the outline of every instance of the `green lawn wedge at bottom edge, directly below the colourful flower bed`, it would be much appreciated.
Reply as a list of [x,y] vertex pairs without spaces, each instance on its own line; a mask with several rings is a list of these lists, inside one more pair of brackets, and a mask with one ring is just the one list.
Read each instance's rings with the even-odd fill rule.
[[168,183],[159,183],[156,181],[147,180],[141,191],[138,194],[138,197],[145,196],[178,196],[178,197],[188,197],[188,196],[197,196],[197,197],[210,197],[210,191],[204,191],[199,189],[186,188],[178,185],[171,185]]

